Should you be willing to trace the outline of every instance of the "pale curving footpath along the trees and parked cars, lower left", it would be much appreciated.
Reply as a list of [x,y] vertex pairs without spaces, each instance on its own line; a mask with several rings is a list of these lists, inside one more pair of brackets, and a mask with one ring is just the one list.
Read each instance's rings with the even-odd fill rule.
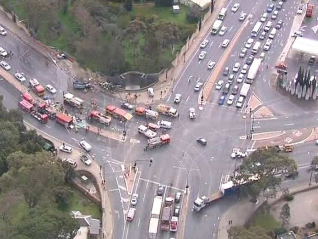
[[[39,135],[49,139],[55,145],[55,147],[59,147],[63,142],[51,135],[45,133],[42,130],[39,130],[32,126],[29,123],[24,122],[26,128],[28,130],[36,130]],[[73,155],[79,155],[81,150],[79,148],[73,147]],[[63,153],[58,152],[58,156],[63,158]],[[100,192],[101,198],[101,207],[102,207],[102,225],[101,225],[101,238],[112,239],[113,238],[113,211],[112,206],[110,203],[108,191],[107,191],[107,181],[103,184],[103,178],[100,171],[100,165],[98,165],[95,161],[92,162],[90,166],[84,165],[80,160],[79,157],[72,158],[77,161],[76,171],[87,171],[90,172],[97,183],[98,191]],[[89,193],[89,192],[88,192]]]

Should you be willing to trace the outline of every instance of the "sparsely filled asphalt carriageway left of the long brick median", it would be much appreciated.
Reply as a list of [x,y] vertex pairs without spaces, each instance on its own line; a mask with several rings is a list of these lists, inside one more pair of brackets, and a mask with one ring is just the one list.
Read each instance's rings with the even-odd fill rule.
[[[239,3],[240,8],[237,12],[232,13],[231,8],[234,3]],[[194,92],[196,82],[200,81],[204,83],[209,78],[210,74],[213,74],[213,69],[208,70],[207,68],[208,62],[210,60],[215,61],[216,63],[218,62],[225,50],[221,47],[223,40],[233,39],[236,32],[242,25],[242,22],[239,22],[239,15],[241,11],[245,11],[249,8],[249,4],[251,4],[250,1],[230,1],[227,6],[227,14],[223,20],[223,25],[227,27],[227,32],[224,36],[219,36],[218,34],[211,35],[211,32],[208,32],[205,39],[209,40],[209,44],[203,49],[198,46],[196,53],[193,55],[183,74],[179,79],[177,79],[177,83],[173,89],[173,94],[169,96],[168,101],[173,101],[174,94],[179,93],[183,95],[183,99],[186,102],[197,104],[198,94]],[[207,52],[204,60],[198,59],[201,51]]]

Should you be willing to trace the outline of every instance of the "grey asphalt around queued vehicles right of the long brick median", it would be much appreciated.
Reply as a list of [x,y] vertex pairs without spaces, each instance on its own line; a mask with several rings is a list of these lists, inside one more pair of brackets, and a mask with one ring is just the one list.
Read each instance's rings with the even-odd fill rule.
[[[271,2],[264,1],[264,3],[269,4]],[[295,6],[295,3],[291,3],[290,1],[284,2],[283,8],[281,10],[279,10],[278,18],[273,20],[273,19],[271,19],[272,13],[269,14],[267,20],[263,23],[262,29],[260,30],[258,36],[256,38],[253,38],[253,40],[254,40],[253,44],[256,41],[259,41],[261,43],[261,47],[260,47],[258,53],[254,55],[254,57],[258,58],[260,56],[260,54],[262,52],[264,52],[265,58],[264,58],[263,63],[260,67],[259,74],[257,75],[254,83],[252,84],[252,88],[250,90],[250,93],[253,91],[253,88],[255,87],[255,85],[258,85],[258,88],[262,92],[262,95],[266,95],[268,91],[271,91],[271,89],[269,89],[269,86],[267,84],[268,79],[269,79],[270,74],[271,74],[270,68],[273,67],[274,64],[276,63],[276,61],[277,61],[285,43],[286,43],[287,37],[289,36],[290,27],[291,27],[292,21],[293,21],[293,19],[290,17],[290,14],[293,12],[293,10],[291,10],[291,9],[294,8],[294,6]],[[258,6],[257,8],[252,9],[252,19],[251,19],[250,26],[245,29],[245,34],[244,34],[245,37],[242,37],[240,39],[239,43],[236,44],[234,50],[232,51],[231,58],[229,58],[226,62],[226,66],[230,68],[229,74],[235,74],[236,80],[240,74],[240,71],[241,71],[243,65],[246,63],[246,59],[252,54],[251,51],[252,51],[253,44],[247,50],[245,57],[240,58],[239,54],[240,54],[241,50],[245,47],[246,41],[249,38],[251,38],[251,31],[252,31],[252,28],[254,27],[255,23],[260,20],[261,15],[265,12],[266,12],[266,5],[262,6],[262,7]],[[260,36],[261,32],[263,31],[264,25],[266,25],[267,21],[272,21],[273,26],[271,29],[273,29],[276,26],[278,20],[283,20],[283,22],[284,22],[283,27],[281,29],[277,30],[277,33],[275,35],[275,38],[273,39],[273,42],[272,42],[270,49],[268,51],[265,51],[263,49],[263,47],[266,43],[266,39],[267,39],[269,33],[266,34],[266,38],[264,40],[259,39],[259,36]],[[240,69],[239,69],[238,73],[233,73],[232,68],[236,62],[238,62],[240,64]],[[268,68],[266,67],[266,65],[268,65]],[[249,65],[249,67],[250,66],[251,65]],[[244,76],[244,81],[247,77],[247,74],[248,74],[248,72]],[[265,75],[267,77],[265,77]],[[227,78],[228,78],[228,76],[221,76],[220,77],[220,80],[222,79],[224,81],[223,87],[226,84]],[[228,99],[228,96],[231,95],[231,91],[232,91],[232,88],[234,87],[234,85],[238,85],[239,90],[240,90],[240,88],[242,87],[242,85],[244,83],[244,81],[242,83],[238,83],[236,80],[232,83],[229,94],[226,95],[226,99],[224,102],[224,105],[226,107],[229,107],[229,106],[227,106],[226,100]],[[262,83],[258,83],[260,81],[262,81]],[[263,83],[264,81],[266,82],[265,85]],[[239,90],[238,90],[238,92],[239,92]],[[218,103],[218,99],[222,95],[221,92],[222,92],[222,89],[213,91],[213,93],[212,93],[212,98],[214,98],[212,101],[213,103],[215,103],[215,104]],[[239,94],[236,95],[235,100],[234,100],[232,106],[230,106],[230,107],[235,108],[235,105],[236,105],[238,98],[239,98]],[[269,99],[268,96],[266,97],[266,99]],[[246,102],[245,102],[245,104],[246,104]]]

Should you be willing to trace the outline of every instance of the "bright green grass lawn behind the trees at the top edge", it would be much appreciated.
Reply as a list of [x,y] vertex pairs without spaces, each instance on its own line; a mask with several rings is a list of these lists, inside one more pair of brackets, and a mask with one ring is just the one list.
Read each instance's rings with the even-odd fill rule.
[[155,7],[152,5],[134,4],[131,14],[138,17],[151,17],[153,15],[158,16],[158,19],[163,19],[172,22],[176,25],[189,24],[187,20],[188,8],[182,4],[179,4],[180,12],[174,14],[172,7]]

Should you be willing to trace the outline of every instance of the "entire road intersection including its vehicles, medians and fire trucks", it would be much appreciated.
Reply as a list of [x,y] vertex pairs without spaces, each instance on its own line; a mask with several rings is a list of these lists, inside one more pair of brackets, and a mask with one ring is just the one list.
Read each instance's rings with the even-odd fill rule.
[[[204,204],[194,201],[219,195],[239,160],[257,145],[297,143],[291,157],[300,176],[284,183],[307,180],[310,158],[302,154],[315,154],[316,104],[290,100],[270,82],[298,7],[290,0],[232,0],[222,6],[171,94],[150,107],[71,90],[73,78],[58,61],[8,31],[1,49],[14,56],[2,52],[3,103],[10,109],[19,104],[26,122],[67,145],[80,144],[100,165],[114,238],[214,239],[233,200],[202,210]],[[127,173],[134,175],[131,187]]]

